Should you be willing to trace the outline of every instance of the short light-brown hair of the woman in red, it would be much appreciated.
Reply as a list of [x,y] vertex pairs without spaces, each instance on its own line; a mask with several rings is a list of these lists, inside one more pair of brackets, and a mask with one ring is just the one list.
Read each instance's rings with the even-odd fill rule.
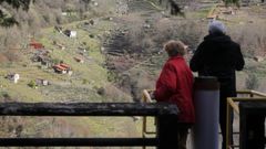
[[185,55],[186,45],[182,41],[171,40],[164,45],[164,50],[167,52],[168,56]]

